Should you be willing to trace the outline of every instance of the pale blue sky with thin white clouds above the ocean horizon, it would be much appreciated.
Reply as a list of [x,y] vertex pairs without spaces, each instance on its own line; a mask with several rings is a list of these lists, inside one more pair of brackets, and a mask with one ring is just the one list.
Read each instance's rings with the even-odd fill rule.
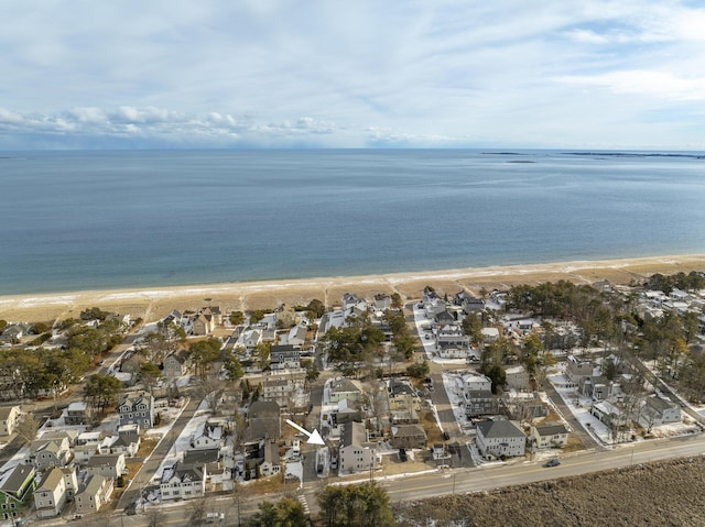
[[705,149],[705,3],[0,0],[0,150]]

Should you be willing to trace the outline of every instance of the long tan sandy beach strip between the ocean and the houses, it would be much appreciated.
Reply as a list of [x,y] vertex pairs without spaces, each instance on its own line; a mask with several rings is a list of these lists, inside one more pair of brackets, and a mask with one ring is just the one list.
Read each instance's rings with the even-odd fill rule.
[[264,309],[281,304],[307,304],[313,298],[327,306],[339,304],[345,293],[371,296],[398,292],[404,298],[419,298],[426,285],[440,293],[467,289],[478,294],[485,287],[507,288],[513,284],[536,284],[568,279],[592,284],[608,279],[615,284],[640,281],[654,273],[705,272],[705,254],[654,256],[628,260],[558,262],[550,264],[476,267],[370,276],[322,277],[271,282],[242,282],[141,289],[106,289],[46,295],[0,296],[0,319],[8,321],[51,321],[77,317],[87,307],[130,314],[154,321],[172,309],[198,309],[204,305],[231,309]]

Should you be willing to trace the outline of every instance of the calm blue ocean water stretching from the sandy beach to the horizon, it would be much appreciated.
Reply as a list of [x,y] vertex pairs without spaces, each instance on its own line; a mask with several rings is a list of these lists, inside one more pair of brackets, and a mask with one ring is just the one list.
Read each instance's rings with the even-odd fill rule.
[[0,154],[0,295],[705,253],[705,160]]

